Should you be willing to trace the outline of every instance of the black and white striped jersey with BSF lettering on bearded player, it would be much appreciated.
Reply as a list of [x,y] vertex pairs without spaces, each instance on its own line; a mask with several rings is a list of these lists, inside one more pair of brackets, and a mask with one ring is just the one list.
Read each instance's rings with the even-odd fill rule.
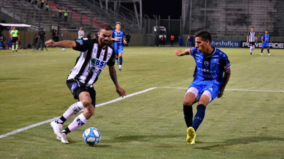
[[107,45],[102,49],[95,39],[78,39],[74,50],[80,51],[74,68],[67,77],[67,81],[74,79],[84,83],[87,87],[93,85],[106,65],[113,66],[115,52]]

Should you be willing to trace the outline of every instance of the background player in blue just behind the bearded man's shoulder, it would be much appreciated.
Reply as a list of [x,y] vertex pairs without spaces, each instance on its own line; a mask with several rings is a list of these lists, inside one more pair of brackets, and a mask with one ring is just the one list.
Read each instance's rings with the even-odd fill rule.
[[125,34],[121,28],[121,23],[118,21],[115,23],[115,30],[112,31],[112,40],[113,42],[113,47],[115,51],[115,59],[116,59],[116,64],[118,65],[118,58],[119,58],[119,67],[118,69],[121,71],[122,70],[122,53],[123,53],[123,43],[126,44],[126,38]]

